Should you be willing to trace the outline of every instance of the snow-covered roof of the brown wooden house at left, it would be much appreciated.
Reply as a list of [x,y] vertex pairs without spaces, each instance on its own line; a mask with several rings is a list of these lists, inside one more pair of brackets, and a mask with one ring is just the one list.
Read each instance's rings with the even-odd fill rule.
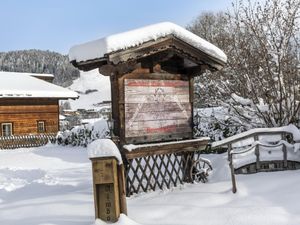
[[34,76],[34,73],[0,71],[0,98],[78,98],[76,92]]

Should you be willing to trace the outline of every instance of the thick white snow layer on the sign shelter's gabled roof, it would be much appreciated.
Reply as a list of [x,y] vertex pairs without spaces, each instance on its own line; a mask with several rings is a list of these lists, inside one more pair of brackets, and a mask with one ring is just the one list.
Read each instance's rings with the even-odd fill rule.
[[75,45],[69,51],[69,59],[70,61],[81,62],[103,58],[108,53],[136,47],[145,42],[157,40],[169,35],[173,35],[223,63],[227,61],[227,56],[222,50],[192,32],[170,22],[157,23]]

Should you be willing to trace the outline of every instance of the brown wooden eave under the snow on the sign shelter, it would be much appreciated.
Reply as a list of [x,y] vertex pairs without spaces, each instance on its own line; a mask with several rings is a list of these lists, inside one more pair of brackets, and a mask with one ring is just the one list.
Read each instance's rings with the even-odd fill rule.
[[104,65],[118,65],[130,61],[136,61],[154,55],[159,52],[173,51],[182,58],[187,58],[197,65],[207,65],[211,70],[220,70],[225,63],[213,57],[192,45],[174,37],[173,35],[160,38],[155,41],[148,41],[137,47],[120,50],[105,55],[103,58],[71,63],[78,69],[88,71],[96,68],[101,68]]

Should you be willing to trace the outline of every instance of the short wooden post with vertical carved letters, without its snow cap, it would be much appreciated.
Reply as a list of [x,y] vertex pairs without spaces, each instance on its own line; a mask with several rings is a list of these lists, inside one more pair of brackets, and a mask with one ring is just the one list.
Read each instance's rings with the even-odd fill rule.
[[[92,158],[95,218],[116,222],[126,213],[124,169],[115,157]],[[121,174],[123,175],[121,176]]]

